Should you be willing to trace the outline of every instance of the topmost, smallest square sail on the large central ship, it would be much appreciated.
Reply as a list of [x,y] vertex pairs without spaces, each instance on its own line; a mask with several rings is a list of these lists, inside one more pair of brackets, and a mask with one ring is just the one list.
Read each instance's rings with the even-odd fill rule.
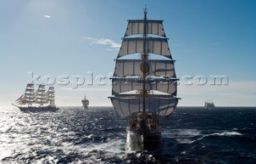
[[[146,31],[148,34],[159,35],[166,37],[163,29],[162,20],[146,20]],[[144,20],[128,20],[128,27],[125,36],[134,34],[143,34]]]

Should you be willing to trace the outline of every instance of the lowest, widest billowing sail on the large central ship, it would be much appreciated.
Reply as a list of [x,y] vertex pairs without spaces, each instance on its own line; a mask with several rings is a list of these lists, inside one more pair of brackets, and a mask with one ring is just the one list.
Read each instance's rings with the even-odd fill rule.
[[[127,117],[134,112],[143,111],[143,97],[110,97],[115,111],[120,117]],[[178,103],[176,97],[148,96],[145,98],[146,112],[168,116],[174,111]]]

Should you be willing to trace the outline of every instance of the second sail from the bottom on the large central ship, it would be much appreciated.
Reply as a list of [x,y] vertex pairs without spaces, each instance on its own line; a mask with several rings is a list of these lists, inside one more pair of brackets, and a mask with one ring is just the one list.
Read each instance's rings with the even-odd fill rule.
[[[113,78],[112,95],[118,95],[122,92],[130,92],[143,89],[143,80],[138,78]],[[146,79],[146,90],[155,90],[158,92],[169,93],[176,96],[177,79],[150,78]]]

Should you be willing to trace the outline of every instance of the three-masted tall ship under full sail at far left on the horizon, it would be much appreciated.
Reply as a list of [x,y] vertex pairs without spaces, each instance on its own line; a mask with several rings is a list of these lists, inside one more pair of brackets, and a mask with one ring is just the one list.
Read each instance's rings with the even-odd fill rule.
[[46,92],[46,86],[39,84],[34,91],[34,84],[27,84],[25,93],[12,105],[21,111],[57,111],[54,93],[54,87],[49,87]]

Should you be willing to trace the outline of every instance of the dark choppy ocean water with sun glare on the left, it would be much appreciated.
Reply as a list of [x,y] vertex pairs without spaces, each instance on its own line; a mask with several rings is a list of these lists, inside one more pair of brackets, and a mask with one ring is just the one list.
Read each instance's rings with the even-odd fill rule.
[[0,114],[0,163],[256,163],[256,107],[178,107],[156,153],[126,152],[128,120],[113,107]]

